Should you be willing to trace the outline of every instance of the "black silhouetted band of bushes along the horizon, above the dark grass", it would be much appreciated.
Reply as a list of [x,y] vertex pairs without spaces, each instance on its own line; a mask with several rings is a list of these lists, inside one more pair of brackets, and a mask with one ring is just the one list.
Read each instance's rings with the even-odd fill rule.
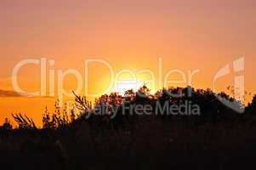
[[[151,117],[161,117],[162,120],[182,120],[185,122],[190,121],[195,125],[206,122],[254,122],[253,113],[256,108],[256,96],[253,97],[251,103],[247,106],[242,102],[237,101],[235,97],[225,93],[214,94],[210,89],[194,89],[187,88],[168,88],[162,89],[156,94],[150,94],[150,89],[146,86],[139,88],[137,92],[134,90],[128,90],[124,95],[118,93],[111,93],[109,95],[102,95],[100,98],[95,99],[94,106],[86,99],[85,96],[75,96],[75,105],[67,111],[67,105],[60,108],[59,101],[57,100],[54,105],[54,113],[49,113],[46,107],[43,113],[43,129],[61,129],[70,127],[72,124],[85,121],[91,117],[101,117],[102,122],[108,122],[113,127],[122,126],[122,122],[133,122],[139,114],[133,110],[136,105],[150,105]],[[231,110],[228,106],[224,105],[217,96],[220,96],[227,101],[233,102],[237,105],[237,108],[244,109],[244,113],[237,113]],[[131,107],[133,105],[133,107]],[[183,113],[170,114],[167,107],[173,105],[179,107],[185,105],[190,107],[191,105],[197,105],[200,112],[196,115],[186,114],[185,109],[182,108]],[[144,108],[142,108],[144,109]],[[161,110],[161,111],[159,111]],[[135,112],[135,113],[134,113]],[[157,112],[157,114],[156,114]],[[177,111],[176,111],[177,112]],[[142,114],[143,115],[143,112]],[[18,124],[19,129],[37,129],[33,120],[22,114],[13,114],[14,121]],[[140,116],[142,117],[142,116]],[[144,115],[145,117],[145,115]],[[94,118],[92,118],[94,119]],[[5,118],[1,129],[12,129],[13,126],[9,120]]]

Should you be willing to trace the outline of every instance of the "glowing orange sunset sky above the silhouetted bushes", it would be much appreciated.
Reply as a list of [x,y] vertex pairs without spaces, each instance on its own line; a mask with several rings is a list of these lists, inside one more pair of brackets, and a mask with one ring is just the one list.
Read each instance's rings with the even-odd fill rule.
[[[163,75],[172,69],[199,69],[193,85],[213,88],[220,68],[245,57],[245,88],[256,94],[255,6],[253,0],[3,0],[0,89],[13,90],[12,71],[22,59],[54,59],[54,71],[77,69],[82,78],[84,60],[105,59],[115,75],[122,69],[134,73],[148,69],[157,82],[161,57]],[[110,81],[105,65],[91,65],[88,73],[89,91],[105,91]],[[38,90],[39,76],[38,65],[22,67],[20,87]],[[137,76],[145,82],[149,75]],[[232,85],[233,76],[221,79],[218,88]],[[77,85],[71,76],[64,84],[66,90]],[[45,105],[54,105],[54,99],[0,97],[0,121],[22,111],[40,122]]]

